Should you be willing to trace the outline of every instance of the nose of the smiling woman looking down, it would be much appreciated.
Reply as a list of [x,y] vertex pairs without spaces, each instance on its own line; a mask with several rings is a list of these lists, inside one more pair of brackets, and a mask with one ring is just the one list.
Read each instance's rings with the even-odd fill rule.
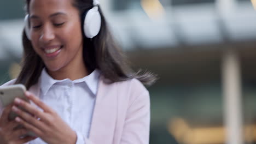
[[44,25],[40,35],[40,42],[48,43],[55,38],[54,29],[50,25]]

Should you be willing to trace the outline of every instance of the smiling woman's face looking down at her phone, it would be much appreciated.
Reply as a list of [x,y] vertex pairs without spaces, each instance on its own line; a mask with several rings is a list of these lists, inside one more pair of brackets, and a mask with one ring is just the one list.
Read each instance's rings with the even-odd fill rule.
[[29,8],[31,43],[48,70],[83,64],[79,11],[72,0],[32,0]]

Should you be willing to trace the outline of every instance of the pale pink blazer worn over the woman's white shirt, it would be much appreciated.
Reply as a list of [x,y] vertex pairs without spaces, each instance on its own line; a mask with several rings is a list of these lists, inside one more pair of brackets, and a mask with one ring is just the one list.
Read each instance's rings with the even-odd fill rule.
[[[29,91],[38,96],[40,88],[36,84]],[[90,134],[84,137],[86,144],[149,143],[149,123],[149,93],[141,82],[132,79],[109,84],[100,77]]]

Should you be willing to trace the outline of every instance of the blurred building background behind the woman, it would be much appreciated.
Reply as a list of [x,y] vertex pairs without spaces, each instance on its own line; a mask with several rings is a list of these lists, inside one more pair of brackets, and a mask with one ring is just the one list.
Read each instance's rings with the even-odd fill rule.
[[[0,0],[0,83],[19,73],[24,2]],[[102,0],[149,87],[150,143],[256,143],[255,0]]]

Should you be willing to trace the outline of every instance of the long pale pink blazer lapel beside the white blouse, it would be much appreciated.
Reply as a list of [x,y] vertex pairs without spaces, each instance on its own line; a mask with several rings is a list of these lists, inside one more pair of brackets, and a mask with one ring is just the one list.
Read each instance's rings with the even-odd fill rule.
[[117,89],[111,88],[113,85],[100,77],[89,135],[92,143],[113,143],[118,112]]

